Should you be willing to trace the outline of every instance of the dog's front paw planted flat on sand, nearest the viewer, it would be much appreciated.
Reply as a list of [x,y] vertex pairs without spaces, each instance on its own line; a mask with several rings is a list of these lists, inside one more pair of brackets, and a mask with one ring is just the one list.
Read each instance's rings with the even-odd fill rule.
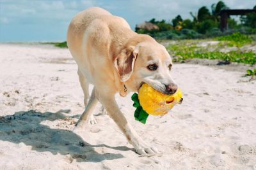
[[154,155],[161,156],[162,153],[157,150],[156,147],[150,146],[147,143],[139,143],[134,146],[136,152],[141,155],[141,157],[151,157]]

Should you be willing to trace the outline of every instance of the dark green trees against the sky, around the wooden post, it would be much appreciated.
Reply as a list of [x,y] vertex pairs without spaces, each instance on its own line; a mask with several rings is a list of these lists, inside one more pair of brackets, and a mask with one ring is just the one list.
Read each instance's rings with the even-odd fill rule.
[[[200,38],[202,34],[206,36],[220,36],[220,13],[221,10],[226,9],[229,9],[228,6],[223,1],[219,1],[211,5],[211,11],[207,6],[202,6],[198,9],[197,13],[190,12],[193,20],[188,18],[184,20],[180,15],[170,20],[171,22],[152,18],[148,22],[157,25],[159,30],[139,29],[136,31],[143,34],[150,34],[150,36],[157,38],[167,39]],[[256,5],[253,9],[256,10]],[[244,15],[241,17],[241,23],[237,23],[236,20],[228,17],[228,29],[244,30],[244,28],[248,28],[246,30],[252,33],[256,32],[256,13]]]

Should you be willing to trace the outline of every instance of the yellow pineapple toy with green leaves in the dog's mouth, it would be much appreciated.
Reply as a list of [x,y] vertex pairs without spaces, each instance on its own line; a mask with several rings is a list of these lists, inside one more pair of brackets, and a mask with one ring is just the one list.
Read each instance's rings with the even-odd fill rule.
[[182,102],[182,92],[178,88],[175,94],[163,94],[144,83],[139,94],[132,95],[133,106],[136,108],[134,112],[135,120],[145,124],[148,115],[165,115],[177,103]]

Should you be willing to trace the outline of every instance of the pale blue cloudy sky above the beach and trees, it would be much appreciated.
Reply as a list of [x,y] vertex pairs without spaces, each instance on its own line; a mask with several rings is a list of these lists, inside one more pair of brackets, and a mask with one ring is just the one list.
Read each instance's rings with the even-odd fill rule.
[[[232,9],[252,9],[256,0],[224,0]],[[134,29],[145,20],[191,18],[213,0],[0,0],[0,41],[65,41],[70,20],[79,11],[99,6],[125,18]]]

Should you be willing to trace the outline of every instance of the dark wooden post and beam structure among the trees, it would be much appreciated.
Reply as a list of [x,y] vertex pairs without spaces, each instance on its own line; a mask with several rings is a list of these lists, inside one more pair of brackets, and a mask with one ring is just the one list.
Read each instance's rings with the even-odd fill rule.
[[230,15],[246,15],[256,10],[221,10],[220,11],[220,29],[221,31],[227,30],[228,16]]

